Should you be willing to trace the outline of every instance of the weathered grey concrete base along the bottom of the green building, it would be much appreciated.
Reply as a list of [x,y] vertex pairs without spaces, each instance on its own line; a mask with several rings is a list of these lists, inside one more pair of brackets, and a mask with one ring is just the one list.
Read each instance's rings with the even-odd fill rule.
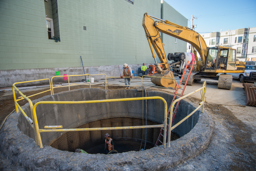
[[[138,65],[129,65],[134,71],[134,74],[138,75],[138,68],[142,64]],[[152,63],[147,63],[146,66],[152,65]],[[119,74],[122,71],[123,65],[109,65],[109,66],[94,66],[94,67],[68,67],[68,68],[41,68],[41,69],[23,69],[23,70],[0,70],[0,88],[11,87],[13,83],[31,81],[31,80],[40,80],[40,79],[50,79],[53,76],[56,76],[56,71],[59,71],[60,75],[81,75],[84,74],[106,74],[107,76],[120,76]],[[58,76],[58,75],[57,75]],[[105,76],[97,75],[93,76],[95,81],[104,80]],[[70,82],[80,82],[82,79],[85,79],[84,76],[75,76],[70,77]],[[87,76],[88,79],[88,76]],[[56,77],[53,79],[53,84],[59,83],[68,83],[68,80],[64,80],[63,77]],[[35,86],[35,85],[49,85],[49,81],[39,81],[31,83],[18,84],[18,87],[25,86]]]

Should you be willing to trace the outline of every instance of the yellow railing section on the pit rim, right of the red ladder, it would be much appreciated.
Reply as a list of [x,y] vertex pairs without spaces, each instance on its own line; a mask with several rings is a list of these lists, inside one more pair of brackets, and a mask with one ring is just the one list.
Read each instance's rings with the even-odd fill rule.
[[[177,124],[175,124],[174,126],[171,127],[172,125],[172,114],[173,114],[173,108],[176,102],[194,94],[195,92],[198,92],[199,90],[203,90],[202,92],[202,101],[199,103],[199,106],[193,111],[191,112],[189,115],[187,115],[185,118],[183,118],[180,122],[178,122]],[[168,129],[168,147],[170,147],[170,142],[171,142],[171,131],[176,128],[177,126],[179,126],[181,123],[183,123],[187,118],[189,118],[191,115],[193,115],[200,107],[202,107],[202,112],[203,112],[203,106],[204,106],[204,100],[205,100],[205,92],[206,92],[206,82],[204,81],[202,84],[202,87],[190,92],[189,94],[182,96],[176,100],[173,101],[171,108],[170,108],[170,119],[169,119],[169,129]]]

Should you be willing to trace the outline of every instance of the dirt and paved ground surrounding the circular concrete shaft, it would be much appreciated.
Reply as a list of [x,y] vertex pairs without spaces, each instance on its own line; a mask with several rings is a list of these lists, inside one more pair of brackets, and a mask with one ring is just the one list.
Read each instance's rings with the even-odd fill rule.
[[[178,80],[177,80],[178,81]],[[187,86],[184,95],[201,87],[204,80]],[[113,82],[112,84],[123,85],[124,83]],[[132,84],[131,84],[132,85]],[[93,86],[92,86],[93,87]],[[94,87],[105,88],[100,85]],[[73,86],[72,89],[85,88],[85,86]],[[109,89],[123,89],[124,86],[109,86]],[[173,91],[151,87],[154,90]],[[22,92],[32,95],[49,88],[25,89]],[[67,91],[68,87],[55,88],[54,93]],[[50,92],[31,97],[31,100],[49,95]],[[16,93],[16,97],[20,95]],[[191,102],[198,103],[200,93],[188,98]],[[245,106],[245,92],[242,84],[233,80],[231,90],[217,88],[216,81],[207,81],[206,99],[208,105],[204,109],[210,113],[214,121],[214,135],[207,149],[195,158],[170,168],[167,171],[192,171],[192,170],[256,170],[256,108]],[[18,102],[21,106],[26,100]],[[221,105],[216,105],[221,104]],[[11,91],[0,93],[0,122],[15,109]],[[13,168],[9,159],[0,153],[0,170],[26,170],[22,166]]]

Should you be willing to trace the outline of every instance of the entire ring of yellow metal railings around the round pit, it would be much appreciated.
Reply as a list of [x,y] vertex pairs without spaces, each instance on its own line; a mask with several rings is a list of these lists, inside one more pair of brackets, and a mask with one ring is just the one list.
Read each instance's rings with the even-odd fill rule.
[[[84,74],[84,75],[89,75],[89,74]],[[69,76],[84,76],[84,75],[68,75]],[[106,75],[106,74],[95,74],[95,75]],[[65,75],[66,76],[66,75]],[[63,76],[54,76],[54,77],[63,77]],[[52,77],[52,79],[54,78]],[[148,76],[148,77],[155,77],[155,76]],[[90,78],[90,75],[89,75]],[[116,77],[107,77],[105,78],[105,89],[107,89],[107,78],[116,78]],[[132,86],[141,86],[143,85],[143,76],[142,78],[139,77],[141,79],[141,85],[132,85]],[[169,79],[169,78],[167,78]],[[106,99],[106,100],[90,100],[90,101],[40,101],[37,102],[33,105],[32,101],[29,99],[29,97],[35,96],[35,95],[39,95],[42,94],[44,92],[47,91],[51,91],[51,95],[53,95],[53,83],[52,80],[49,80],[50,83],[50,89],[28,96],[26,97],[22,92],[19,91],[19,89],[15,86],[16,84],[21,84],[21,83],[28,83],[28,82],[36,82],[36,81],[43,81],[43,80],[49,80],[49,79],[41,79],[41,80],[33,80],[33,81],[25,81],[25,82],[17,82],[14,83],[12,85],[12,91],[13,91],[13,97],[14,97],[14,103],[15,103],[15,109],[16,112],[18,113],[18,109],[23,113],[23,115],[25,116],[25,118],[27,119],[27,121],[29,122],[30,126],[34,129],[34,134],[35,134],[35,141],[37,143],[37,145],[40,146],[40,148],[43,147],[42,145],[42,140],[41,140],[41,136],[40,136],[40,132],[60,132],[60,131],[92,131],[92,130],[116,130],[116,129],[139,129],[139,128],[157,128],[157,127],[164,127],[164,139],[163,139],[163,147],[166,148],[166,131],[167,131],[167,103],[165,101],[165,99],[163,99],[162,97],[140,97],[140,98],[124,98],[124,99]],[[175,81],[175,79],[173,79]],[[176,81],[175,81],[176,82]],[[82,83],[84,84],[84,83]],[[90,82],[89,82],[90,84]],[[101,83],[100,83],[101,84]],[[80,85],[80,84],[75,84],[75,85]],[[144,84],[147,85],[147,84]],[[73,86],[73,85],[68,85],[68,86]],[[115,86],[115,85],[111,85],[111,86]],[[118,85],[116,85],[118,86]],[[152,86],[152,85],[151,85]],[[63,87],[67,87],[67,86],[63,86]],[[56,87],[57,88],[57,87]],[[162,88],[162,87],[161,87]],[[22,96],[20,99],[16,99],[15,96],[15,89],[17,90],[17,92]],[[203,107],[204,107],[204,100],[205,100],[205,91],[206,91],[206,82],[204,81],[203,85],[201,88],[190,92],[189,94],[182,96],[176,100],[173,101],[171,108],[170,108],[170,118],[172,118],[173,115],[173,108],[176,102],[194,94],[195,92],[198,92],[199,90],[202,90],[202,101],[199,103],[199,106],[193,111],[191,112],[188,116],[186,116],[184,119],[182,119],[179,123],[177,123],[176,125],[169,127],[168,129],[168,147],[170,147],[170,137],[171,137],[171,131],[176,128],[177,126],[179,126],[182,122],[184,122],[187,118],[189,118],[192,114],[194,114],[200,107],[202,107],[202,112],[203,112]],[[31,117],[32,120],[26,115],[26,113],[22,110],[22,108],[20,107],[20,105],[17,103],[17,101],[19,100],[23,100],[26,99],[29,103],[30,106],[30,110],[31,110]],[[56,129],[56,128],[62,128],[62,126],[45,126],[45,129],[39,129],[38,126],[38,120],[37,120],[37,115],[35,112],[35,109],[37,107],[38,104],[81,104],[81,103],[102,103],[102,102],[117,102],[117,101],[132,101],[132,100],[149,100],[149,99],[160,99],[164,102],[165,104],[165,122],[164,124],[161,125],[147,125],[147,126],[130,126],[130,127],[106,127],[106,128],[79,128],[79,129]],[[172,124],[172,119],[169,119],[169,125]],[[46,128],[51,128],[51,129],[46,129]]]

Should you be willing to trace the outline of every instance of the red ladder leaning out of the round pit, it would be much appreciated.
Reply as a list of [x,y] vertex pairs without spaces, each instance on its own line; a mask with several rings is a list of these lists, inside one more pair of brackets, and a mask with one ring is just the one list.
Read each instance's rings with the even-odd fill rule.
[[[193,70],[193,68],[194,68],[194,65],[195,65],[196,61],[193,61],[193,64],[192,64],[192,65],[188,65],[188,63],[189,63],[189,61],[187,61],[187,65],[186,65],[186,67],[185,67],[185,69],[184,69],[184,72],[183,72],[183,74],[182,74],[182,76],[181,76],[181,81],[180,81],[180,83],[179,83],[179,86],[176,88],[176,90],[175,90],[175,92],[174,92],[174,96],[173,96],[173,99],[172,99],[170,108],[169,108],[169,110],[168,110],[168,112],[167,112],[167,119],[170,119],[169,115],[170,115],[171,106],[172,106],[172,103],[173,103],[173,101],[175,100],[176,96],[180,96],[180,97],[183,96],[183,93],[184,93],[185,88],[186,88],[186,86],[187,86],[188,79],[189,79],[189,77],[190,77],[190,74],[191,74],[191,72],[192,72],[192,70]],[[192,66],[192,67],[190,68],[190,70],[187,70],[187,67],[188,67],[188,66]],[[184,77],[184,75],[185,75],[185,73],[186,73],[187,71],[189,72],[189,73],[188,73],[188,76],[187,76],[187,77]],[[183,88],[180,88],[181,82],[182,82],[183,78],[186,78],[187,80],[186,80],[186,82],[185,82],[184,87],[183,87]],[[178,91],[179,91],[179,89],[182,89],[181,95],[178,95],[178,94],[177,94]],[[175,118],[175,116],[176,116],[176,114],[177,114],[177,109],[178,109],[179,104],[180,104],[180,100],[177,102],[176,106],[173,107],[173,108],[174,108],[174,111],[173,111],[173,116],[172,116],[172,124],[173,124],[174,118]],[[165,123],[165,122],[163,122],[163,124],[164,124],[164,123]],[[168,128],[169,128],[169,124],[167,124],[166,135],[168,135]],[[163,142],[160,141],[161,136],[163,137],[163,129],[164,129],[164,128],[161,128],[161,131],[160,131],[160,134],[159,134],[159,136],[158,136],[158,139],[157,139],[157,141],[156,141],[156,145],[155,145],[155,146],[157,146],[157,144],[158,144],[159,142],[163,144]]]

